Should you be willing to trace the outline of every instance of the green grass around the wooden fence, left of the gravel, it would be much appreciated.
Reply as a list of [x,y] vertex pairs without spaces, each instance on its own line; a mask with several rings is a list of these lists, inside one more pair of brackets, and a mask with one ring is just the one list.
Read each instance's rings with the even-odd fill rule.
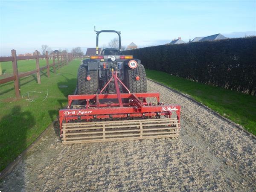
[[[12,70],[12,64],[8,63],[2,63],[6,73]],[[47,70],[44,70],[41,72],[41,84],[37,84],[36,74],[22,78],[21,95],[36,91],[29,93],[29,98],[35,102],[26,99],[15,101],[13,81],[0,85],[0,171],[56,119],[58,110],[67,104],[68,94],[75,90],[80,63],[81,61],[71,61],[69,65],[56,70],[56,73],[52,73],[51,70],[50,78],[47,78]],[[45,60],[40,60],[40,66],[44,65]],[[33,70],[35,60],[19,62],[18,67],[21,72]],[[59,85],[68,87],[59,88]],[[47,99],[44,100],[46,96]]]

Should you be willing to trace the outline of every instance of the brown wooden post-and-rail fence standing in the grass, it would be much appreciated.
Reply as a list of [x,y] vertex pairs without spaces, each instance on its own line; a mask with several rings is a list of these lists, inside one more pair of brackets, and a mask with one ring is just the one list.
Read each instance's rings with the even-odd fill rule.
[[[20,78],[36,73],[37,74],[37,82],[38,82],[38,84],[41,84],[40,71],[47,69],[47,77],[49,77],[50,76],[50,67],[53,67],[53,72],[56,73],[56,67],[62,67],[63,65],[68,64],[70,61],[73,60],[72,54],[48,55],[48,52],[46,52],[45,55],[38,55],[38,51],[36,50],[35,51],[36,55],[33,55],[33,56],[17,56],[16,50],[12,49],[11,52],[12,52],[11,57],[0,57],[0,62],[12,61],[13,76],[7,77],[5,79],[0,79],[0,84],[14,81],[16,99],[20,99]],[[39,65],[40,58],[46,59],[46,64],[47,64],[46,66],[41,67],[41,68]],[[52,60],[53,60],[52,64],[49,64],[49,58],[52,58]],[[57,62],[55,62],[55,58],[57,58]],[[35,59],[36,69],[19,74],[17,61],[27,60],[27,59]]]

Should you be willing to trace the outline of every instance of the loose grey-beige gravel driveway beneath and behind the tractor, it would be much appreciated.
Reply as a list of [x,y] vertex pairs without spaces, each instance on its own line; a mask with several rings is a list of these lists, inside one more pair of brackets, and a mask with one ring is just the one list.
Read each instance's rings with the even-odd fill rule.
[[206,108],[148,80],[180,104],[177,139],[63,145],[51,128],[0,191],[253,191],[256,140]]

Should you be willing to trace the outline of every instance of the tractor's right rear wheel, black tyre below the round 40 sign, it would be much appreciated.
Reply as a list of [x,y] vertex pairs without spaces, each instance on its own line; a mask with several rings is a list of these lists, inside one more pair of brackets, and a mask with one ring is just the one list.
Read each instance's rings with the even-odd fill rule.
[[[140,80],[136,80],[139,76]],[[145,68],[142,64],[138,64],[135,69],[126,67],[125,69],[125,86],[131,93],[146,93],[147,92],[147,78]],[[124,90],[125,91],[125,90]],[[127,92],[127,91],[125,91]]]

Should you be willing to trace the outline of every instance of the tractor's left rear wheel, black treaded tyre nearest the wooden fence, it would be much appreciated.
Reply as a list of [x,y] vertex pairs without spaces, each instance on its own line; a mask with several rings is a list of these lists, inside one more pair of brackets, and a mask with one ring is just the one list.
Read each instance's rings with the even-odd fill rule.
[[[90,81],[86,79],[90,76]],[[77,75],[77,88],[79,95],[95,94],[99,88],[99,74],[97,70],[90,70],[87,74],[87,67],[80,65]]]

